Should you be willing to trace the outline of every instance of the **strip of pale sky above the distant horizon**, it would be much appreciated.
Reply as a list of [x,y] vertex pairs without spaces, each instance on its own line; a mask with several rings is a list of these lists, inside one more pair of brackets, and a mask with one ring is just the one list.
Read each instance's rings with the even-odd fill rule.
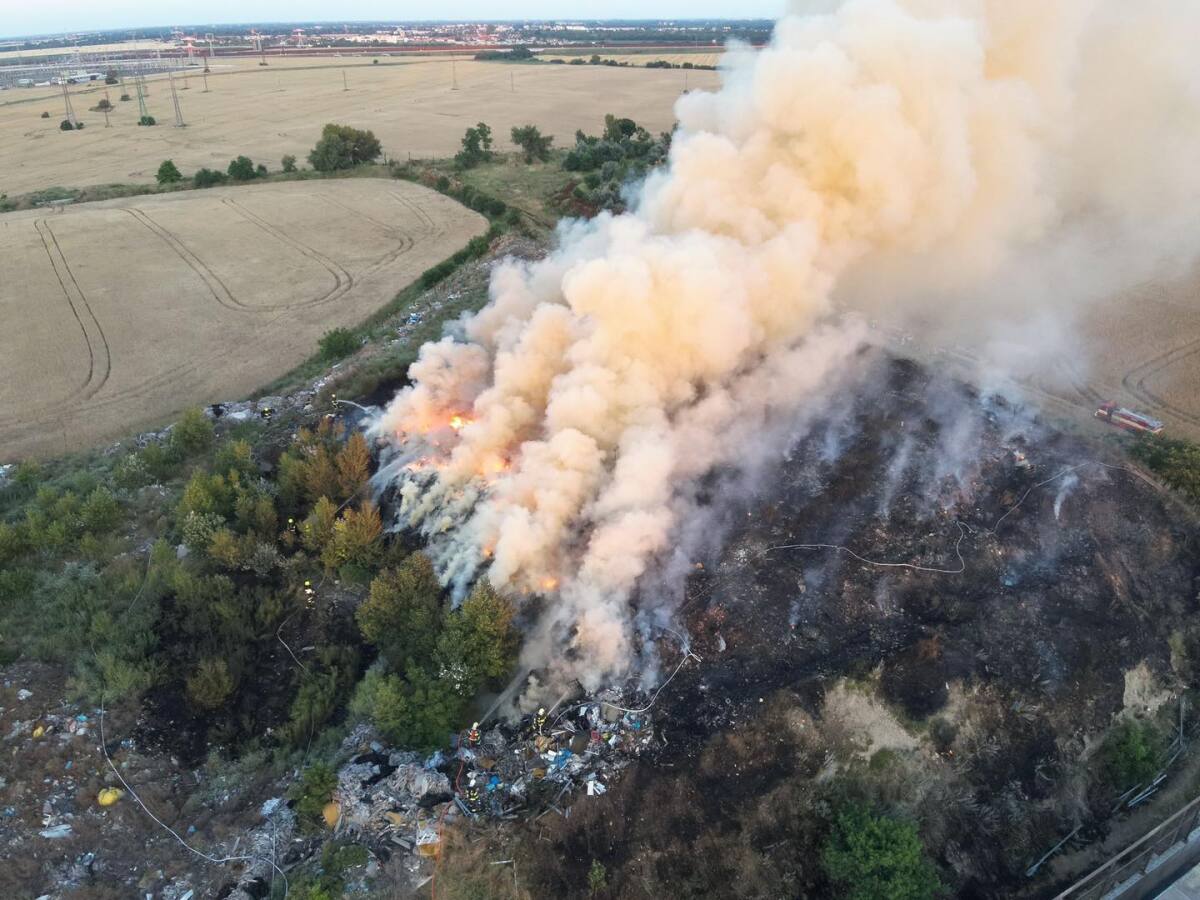
[[773,18],[784,0],[0,0],[0,36],[192,23]]

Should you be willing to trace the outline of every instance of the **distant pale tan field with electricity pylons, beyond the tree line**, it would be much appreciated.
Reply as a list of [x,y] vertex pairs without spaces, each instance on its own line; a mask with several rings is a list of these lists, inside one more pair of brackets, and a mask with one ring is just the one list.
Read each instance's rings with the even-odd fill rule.
[[[204,92],[202,74],[176,77],[186,128],[172,127],[166,78],[149,80],[150,113],[160,125],[138,127],[138,104],[119,102],[132,84],[108,89],[116,107],[113,127],[90,107],[104,85],[73,88],[72,103],[88,125],[61,132],[60,89],[7,91],[0,102],[0,193],[54,185],[152,181],[158,164],[174,160],[185,174],[224,169],[245,154],[272,170],[284,154],[304,161],[325,122],[372,128],[396,160],[450,156],[467,127],[484,120],[499,149],[514,125],[533,122],[570,144],[577,128],[598,132],[606,113],[628,115],[652,132],[674,122],[683,74],[604,66],[515,66],[467,59],[418,59],[371,65],[361,56],[271,61],[218,60]],[[343,89],[342,74],[349,90]],[[454,90],[457,80],[458,89]],[[715,86],[715,72],[692,72],[692,88]],[[186,89],[186,90],[185,90]],[[49,112],[49,119],[40,118]]]

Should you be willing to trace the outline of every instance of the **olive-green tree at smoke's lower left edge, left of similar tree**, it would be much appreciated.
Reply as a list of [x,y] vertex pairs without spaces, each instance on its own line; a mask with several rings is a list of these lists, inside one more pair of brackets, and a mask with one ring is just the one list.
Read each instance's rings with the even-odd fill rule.
[[442,629],[442,586],[424,553],[413,553],[398,569],[380,572],[354,613],[362,637],[396,671],[428,665]]

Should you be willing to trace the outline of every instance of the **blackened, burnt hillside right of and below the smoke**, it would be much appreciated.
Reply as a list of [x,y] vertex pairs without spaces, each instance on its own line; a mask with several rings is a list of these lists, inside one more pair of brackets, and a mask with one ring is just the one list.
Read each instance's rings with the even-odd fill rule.
[[[847,794],[914,818],[961,896],[1046,894],[1076,872],[1026,878],[1044,851],[1110,833],[1098,736],[1195,680],[1169,647],[1195,640],[1190,517],[1099,425],[882,355],[841,396],[752,484],[704,487],[720,550],[682,601],[702,662],[659,697],[652,761],[527,833],[535,896],[586,895],[594,859],[613,896],[828,895]],[[817,544],[941,571],[793,546]]]

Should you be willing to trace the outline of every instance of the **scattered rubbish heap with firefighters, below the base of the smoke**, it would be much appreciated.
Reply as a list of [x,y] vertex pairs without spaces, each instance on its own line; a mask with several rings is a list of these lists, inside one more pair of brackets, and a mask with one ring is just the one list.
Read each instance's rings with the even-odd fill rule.
[[[473,725],[451,752],[422,760],[362,745],[338,772],[325,821],[337,833],[433,857],[440,826],[458,817],[570,815],[581,797],[599,797],[611,780],[658,742],[646,698],[607,690],[516,722]],[[391,845],[391,847],[388,847]]]

